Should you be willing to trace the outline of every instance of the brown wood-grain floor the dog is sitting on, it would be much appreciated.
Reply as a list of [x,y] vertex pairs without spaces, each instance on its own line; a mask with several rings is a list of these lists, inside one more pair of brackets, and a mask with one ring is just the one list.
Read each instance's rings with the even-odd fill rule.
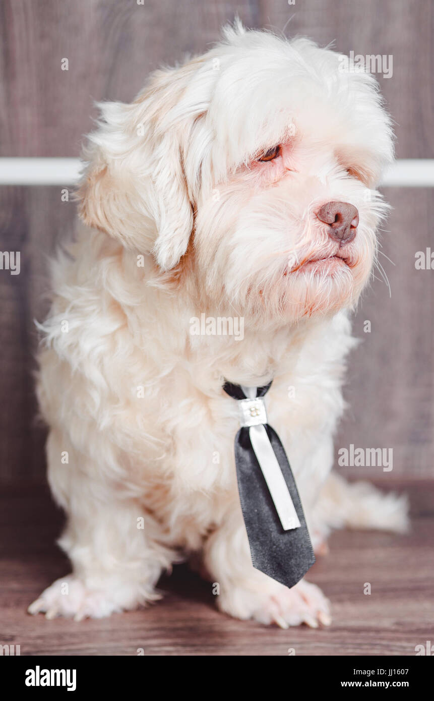
[[414,655],[434,640],[434,482],[395,486],[411,498],[412,533],[334,533],[309,577],[332,601],[332,626],[289,630],[219,613],[210,585],[184,566],[147,610],[80,623],[34,618],[29,602],[68,571],[53,545],[62,516],[46,490],[2,489],[0,644],[20,645],[21,655]]

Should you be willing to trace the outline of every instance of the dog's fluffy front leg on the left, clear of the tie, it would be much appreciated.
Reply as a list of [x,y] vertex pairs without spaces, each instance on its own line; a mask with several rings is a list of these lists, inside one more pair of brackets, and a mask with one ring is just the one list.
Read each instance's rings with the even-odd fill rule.
[[[51,432],[48,442],[50,486],[67,512],[59,544],[72,562],[72,574],[56,580],[29,606],[29,613],[102,618],[158,599],[154,585],[170,567],[161,526],[140,503],[98,479],[97,471],[59,465],[60,446]],[[56,461],[55,468],[53,462]]]

